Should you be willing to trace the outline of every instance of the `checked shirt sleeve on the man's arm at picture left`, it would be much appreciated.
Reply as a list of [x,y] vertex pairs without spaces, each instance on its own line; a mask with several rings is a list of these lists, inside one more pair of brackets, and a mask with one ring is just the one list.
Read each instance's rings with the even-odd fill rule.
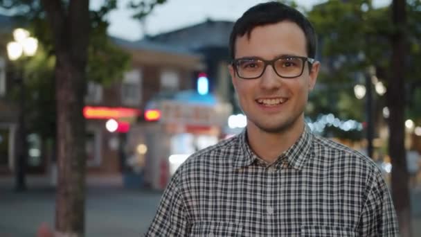
[[[180,168],[177,170],[179,171]],[[188,213],[179,190],[179,172],[174,173],[145,236],[188,236]]]

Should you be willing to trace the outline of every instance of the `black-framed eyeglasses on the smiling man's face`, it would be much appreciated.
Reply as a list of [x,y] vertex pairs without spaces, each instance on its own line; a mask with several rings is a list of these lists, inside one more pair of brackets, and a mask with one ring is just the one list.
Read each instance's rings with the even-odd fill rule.
[[300,56],[280,56],[273,60],[264,60],[262,58],[238,58],[231,64],[239,78],[256,79],[260,78],[267,65],[271,65],[276,75],[281,78],[297,78],[304,71],[305,62],[313,64],[314,58]]

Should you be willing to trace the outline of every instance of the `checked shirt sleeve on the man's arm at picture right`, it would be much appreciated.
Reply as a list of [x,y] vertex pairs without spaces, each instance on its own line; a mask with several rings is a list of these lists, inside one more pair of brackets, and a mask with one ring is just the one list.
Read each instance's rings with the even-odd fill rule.
[[368,180],[372,186],[360,218],[360,236],[400,236],[391,193],[380,171],[373,176]]

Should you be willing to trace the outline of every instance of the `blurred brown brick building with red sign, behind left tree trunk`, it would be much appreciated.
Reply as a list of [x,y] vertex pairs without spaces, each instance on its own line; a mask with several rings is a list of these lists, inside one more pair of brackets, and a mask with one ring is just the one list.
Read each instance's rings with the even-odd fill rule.
[[[0,17],[1,39],[10,39],[13,28],[10,17]],[[5,26],[5,27],[3,27]],[[124,155],[127,152],[119,146],[122,135],[107,131],[107,119],[118,112],[130,111],[123,118],[126,123],[145,123],[143,117],[148,100],[159,92],[174,92],[194,87],[197,73],[203,71],[201,55],[189,50],[165,46],[154,42],[128,42],[111,38],[132,56],[132,67],[120,82],[104,87],[95,82],[88,83],[87,107],[87,157],[88,171],[93,174],[115,174],[123,170]],[[14,170],[15,137],[18,107],[10,100],[12,63],[6,54],[6,40],[0,42],[0,174],[10,175]],[[102,109],[102,110],[100,110]],[[98,116],[102,113],[102,117]],[[115,118],[120,119],[120,118]],[[28,172],[48,174],[55,167],[53,145],[42,141],[37,134],[28,133]]]

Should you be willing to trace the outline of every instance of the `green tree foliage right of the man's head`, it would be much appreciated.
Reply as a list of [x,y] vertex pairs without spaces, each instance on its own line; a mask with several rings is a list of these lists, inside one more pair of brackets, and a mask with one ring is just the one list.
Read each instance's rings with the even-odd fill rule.
[[[414,67],[421,63],[421,2],[407,1],[407,8],[409,28],[406,32],[411,53],[407,56],[409,67],[403,75],[409,91],[403,96],[409,96],[409,114],[421,118],[421,113],[411,106],[411,101],[416,101],[415,89],[411,88],[421,86],[421,69]],[[319,83],[323,85],[324,92],[315,92],[316,95],[312,96],[314,111],[325,113],[326,109],[330,109],[342,119],[361,121],[364,119],[364,104],[353,96],[354,85],[364,84],[368,68],[374,66],[378,80],[387,88],[386,79],[393,67],[390,65],[390,37],[395,29],[389,9],[374,8],[370,0],[330,0],[305,13],[318,33],[318,59],[323,65]],[[376,100],[384,104],[382,100],[385,96],[377,96]]]

